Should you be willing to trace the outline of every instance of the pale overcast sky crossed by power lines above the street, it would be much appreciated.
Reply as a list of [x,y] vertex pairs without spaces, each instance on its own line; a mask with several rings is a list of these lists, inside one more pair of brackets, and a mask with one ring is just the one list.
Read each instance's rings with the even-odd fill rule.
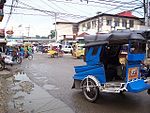
[[[82,2],[81,2],[82,1]],[[96,12],[116,14],[141,6],[143,0],[7,0],[4,7],[4,18],[1,28],[14,30],[16,35],[47,36],[56,21],[78,22],[95,16]],[[32,9],[32,10],[31,10]],[[10,12],[12,12],[10,16]],[[136,10],[134,15],[142,17],[143,9]],[[10,19],[8,21],[8,17]]]

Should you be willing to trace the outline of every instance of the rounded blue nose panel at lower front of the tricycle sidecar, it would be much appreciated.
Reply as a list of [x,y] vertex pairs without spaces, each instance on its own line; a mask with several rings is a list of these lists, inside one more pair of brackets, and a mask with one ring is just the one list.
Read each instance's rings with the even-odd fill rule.
[[144,80],[137,80],[134,82],[130,82],[127,85],[128,92],[141,92],[147,89],[150,89],[150,84],[144,82]]

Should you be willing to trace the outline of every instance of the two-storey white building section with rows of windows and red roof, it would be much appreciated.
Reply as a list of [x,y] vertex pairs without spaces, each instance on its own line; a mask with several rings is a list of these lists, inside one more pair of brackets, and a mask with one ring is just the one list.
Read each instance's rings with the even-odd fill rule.
[[143,22],[131,12],[122,12],[116,15],[99,14],[79,22],[78,33],[109,33],[112,30],[122,29],[140,30],[141,27],[143,27]]

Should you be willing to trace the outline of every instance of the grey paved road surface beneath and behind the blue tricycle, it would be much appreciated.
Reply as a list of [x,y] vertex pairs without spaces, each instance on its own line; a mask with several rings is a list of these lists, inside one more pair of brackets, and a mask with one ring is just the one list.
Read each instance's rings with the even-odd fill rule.
[[100,95],[96,103],[88,102],[81,91],[72,90],[73,67],[84,62],[69,55],[48,58],[36,54],[32,61],[24,60],[22,68],[39,86],[70,106],[76,113],[150,113],[150,96],[146,92]]

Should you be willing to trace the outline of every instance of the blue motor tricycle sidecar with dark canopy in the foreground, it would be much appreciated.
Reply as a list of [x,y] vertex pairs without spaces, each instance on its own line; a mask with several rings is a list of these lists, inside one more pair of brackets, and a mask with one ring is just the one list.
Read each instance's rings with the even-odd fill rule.
[[88,101],[94,102],[100,92],[150,92],[150,78],[143,78],[140,73],[146,52],[146,41],[141,34],[89,35],[85,42],[86,65],[75,66],[72,88],[82,89]]

